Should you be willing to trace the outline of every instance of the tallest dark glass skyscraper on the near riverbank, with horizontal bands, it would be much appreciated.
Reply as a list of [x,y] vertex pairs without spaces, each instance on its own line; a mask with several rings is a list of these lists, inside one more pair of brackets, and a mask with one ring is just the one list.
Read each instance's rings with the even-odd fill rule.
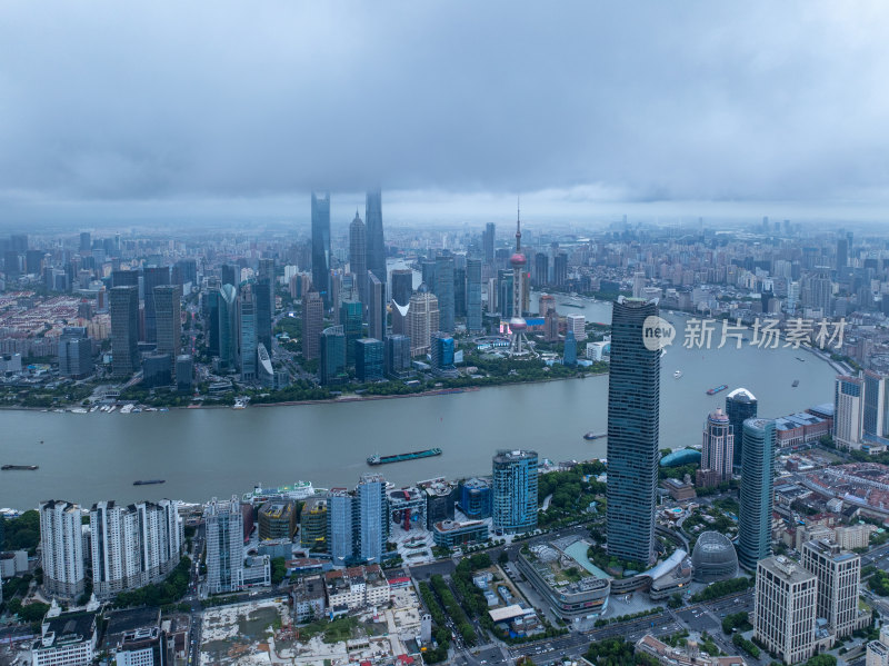
[[611,315],[608,386],[608,553],[647,565],[655,557],[660,430],[660,351],[643,342],[657,301],[618,297]]

